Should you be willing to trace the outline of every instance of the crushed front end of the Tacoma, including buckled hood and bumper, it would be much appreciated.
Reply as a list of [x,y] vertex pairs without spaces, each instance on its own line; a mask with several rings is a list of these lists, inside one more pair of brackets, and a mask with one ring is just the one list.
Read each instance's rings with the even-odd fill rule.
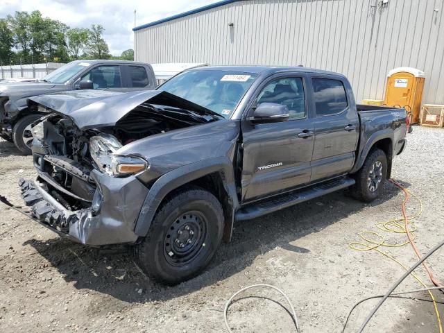
[[64,92],[35,96],[28,107],[49,114],[31,124],[38,176],[19,182],[25,203],[41,223],[89,245],[145,236],[135,233],[135,223],[148,188],[182,163],[165,157],[150,165],[146,156],[155,146],[147,137],[220,117],[161,91]]

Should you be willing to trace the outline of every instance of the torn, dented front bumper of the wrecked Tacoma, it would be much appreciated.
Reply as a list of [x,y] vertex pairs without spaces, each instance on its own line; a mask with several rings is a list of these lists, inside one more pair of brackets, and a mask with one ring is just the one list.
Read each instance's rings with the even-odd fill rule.
[[92,207],[75,211],[65,208],[46,182],[20,179],[19,187],[35,219],[74,241],[92,246],[135,243],[135,221],[148,189],[136,178],[116,179],[99,172],[94,176],[99,203],[94,206],[93,200]]

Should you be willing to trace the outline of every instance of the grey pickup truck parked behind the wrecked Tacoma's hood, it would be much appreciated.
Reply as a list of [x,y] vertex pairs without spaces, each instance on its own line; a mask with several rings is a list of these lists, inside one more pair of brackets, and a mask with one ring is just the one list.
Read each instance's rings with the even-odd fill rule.
[[31,123],[42,117],[27,108],[26,99],[76,89],[120,91],[154,89],[151,65],[123,60],[76,60],[34,82],[0,82],[0,137],[31,154]]

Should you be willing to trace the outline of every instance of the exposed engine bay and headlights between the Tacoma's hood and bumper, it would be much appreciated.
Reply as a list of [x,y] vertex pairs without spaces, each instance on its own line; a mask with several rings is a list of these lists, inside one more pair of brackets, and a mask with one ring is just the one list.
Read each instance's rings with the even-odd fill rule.
[[144,137],[207,121],[174,108],[160,113],[153,105],[144,104],[113,126],[81,130],[73,119],[52,113],[32,128],[46,152],[34,153],[34,164],[45,191],[65,209],[81,210],[91,207],[94,199],[97,184],[93,169],[121,178],[148,167],[142,157],[116,154],[119,148]]

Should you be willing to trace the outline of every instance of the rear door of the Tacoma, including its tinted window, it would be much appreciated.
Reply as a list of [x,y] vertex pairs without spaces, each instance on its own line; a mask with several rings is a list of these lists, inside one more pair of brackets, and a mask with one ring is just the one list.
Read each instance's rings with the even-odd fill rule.
[[311,76],[311,100],[316,113],[311,182],[352,169],[359,119],[350,86],[341,77]]

